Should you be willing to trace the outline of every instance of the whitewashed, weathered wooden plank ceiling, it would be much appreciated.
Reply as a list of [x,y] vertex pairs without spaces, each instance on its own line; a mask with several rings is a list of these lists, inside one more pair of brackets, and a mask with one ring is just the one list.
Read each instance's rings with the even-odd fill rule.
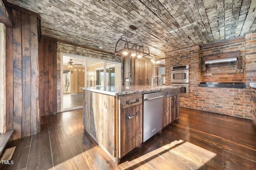
[[[114,53],[123,35],[164,52],[256,30],[256,0],[7,0],[41,16],[42,35]],[[136,32],[129,25],[138,27]]]

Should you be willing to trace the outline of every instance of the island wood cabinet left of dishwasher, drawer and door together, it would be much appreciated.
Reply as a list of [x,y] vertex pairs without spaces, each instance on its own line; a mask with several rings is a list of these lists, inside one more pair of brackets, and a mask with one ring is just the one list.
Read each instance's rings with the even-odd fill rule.
[[119,156],[142,143],[142,94],[118,96],[119,103]]

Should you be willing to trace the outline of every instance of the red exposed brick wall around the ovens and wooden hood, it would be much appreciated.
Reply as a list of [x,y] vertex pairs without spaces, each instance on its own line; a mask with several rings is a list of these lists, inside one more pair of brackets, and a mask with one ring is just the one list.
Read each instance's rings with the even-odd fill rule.
[[[251,45],[252,43],[255,44]],[[202,56],[236,50],[241,52],[242,69],[237,69],[236,65],[232,65],[206,68],[206,72],[201,72]],[[178,57],[181,56],[182,58],[179,61]],[[166,53],[167,85],[171,84],[170,67],[185,64],[190,66],[189,98],[180,97],[181,107],[252,119],[250,113],[250,88],[199,87],[198,83],[207,81],[246,82],[248,84],[248,81],[256,81],[256,33],[245,36],[245,42],[241,43],[203,50],[200,50],[199,46],[194,46]]]

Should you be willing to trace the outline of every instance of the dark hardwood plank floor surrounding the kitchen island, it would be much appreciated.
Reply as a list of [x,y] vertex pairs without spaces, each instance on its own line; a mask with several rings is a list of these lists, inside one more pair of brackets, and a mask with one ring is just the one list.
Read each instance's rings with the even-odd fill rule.
[[82,109],[41,117],[41,132],[10,141],[14,164],[0,169],[256,169],[251,120],[180,108],[174,121],[121,159],[117,167],[84,132]]

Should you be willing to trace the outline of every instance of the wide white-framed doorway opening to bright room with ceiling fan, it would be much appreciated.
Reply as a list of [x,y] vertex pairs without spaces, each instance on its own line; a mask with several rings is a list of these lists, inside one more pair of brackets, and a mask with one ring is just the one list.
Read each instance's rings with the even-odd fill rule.
[[120,86],[121,63],[62,54],[62,111],[82,108],[81,87]]

